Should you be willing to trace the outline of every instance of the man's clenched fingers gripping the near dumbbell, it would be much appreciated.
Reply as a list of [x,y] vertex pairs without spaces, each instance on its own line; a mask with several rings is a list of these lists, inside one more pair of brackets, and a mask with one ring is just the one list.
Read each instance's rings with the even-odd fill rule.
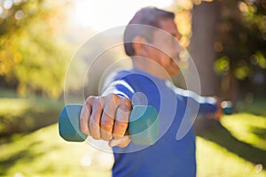
[[81,130],[95,140],[110,141],[111,145],[117,144],[121,147],[127,146],[130,138],[124,134],[128,128],[131,109],[131,102],[126,97],[114,94],[90,96],[82,106]]

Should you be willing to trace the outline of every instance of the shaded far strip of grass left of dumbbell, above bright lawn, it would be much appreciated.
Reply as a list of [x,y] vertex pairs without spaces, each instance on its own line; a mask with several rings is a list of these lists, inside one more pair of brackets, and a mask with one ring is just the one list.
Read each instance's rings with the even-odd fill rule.
[[62,101],[17,97],[15,92],[0,89],[0,137],[28,133],[58,122],[63,105]]

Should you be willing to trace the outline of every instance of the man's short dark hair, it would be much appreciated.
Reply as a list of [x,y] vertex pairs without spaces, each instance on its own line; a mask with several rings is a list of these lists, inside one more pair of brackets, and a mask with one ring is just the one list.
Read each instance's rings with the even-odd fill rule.
[[129,21],[123,37],[125,52],[128,56],[135,55],[132,43],[135,36],[142,36],[145,37],[147,42],[153,42],[154,27],[160,28],[160,19],[175,19],[175,13],[160,10],[156,7],[145,7],[134,15]]

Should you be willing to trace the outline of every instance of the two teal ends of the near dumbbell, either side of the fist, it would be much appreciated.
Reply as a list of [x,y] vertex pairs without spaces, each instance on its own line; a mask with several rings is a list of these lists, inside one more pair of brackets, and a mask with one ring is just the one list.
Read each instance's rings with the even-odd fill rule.
[[[59,116],[59,135],[67,142],[83,142],[87,135],[80,130],[82,104],[66,104]],[[134,106],[129,115],[129,135],[132,142],[151,145],[159,136],[158,112],[153,106]]]

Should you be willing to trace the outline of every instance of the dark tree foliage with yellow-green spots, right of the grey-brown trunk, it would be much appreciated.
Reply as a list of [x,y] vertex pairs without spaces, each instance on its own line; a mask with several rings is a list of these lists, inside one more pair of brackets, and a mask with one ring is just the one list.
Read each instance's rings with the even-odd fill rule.
[[[215,71],[222,78],[223,95],[236,98],[238,84],[244,86],[240,87],[244,93],[255,92],[266,80],[266,2],[234,0],[217,4],[221,13],[215,37]],[[258,74],[261,79],[256,81]]]

